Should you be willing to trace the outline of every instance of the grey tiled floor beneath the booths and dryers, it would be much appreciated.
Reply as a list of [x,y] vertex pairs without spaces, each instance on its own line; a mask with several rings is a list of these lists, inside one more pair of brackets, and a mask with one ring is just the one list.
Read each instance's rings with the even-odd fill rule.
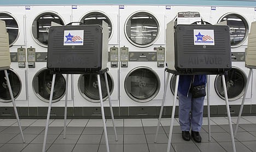
[[[232,118],[235,128],[235,117]],[[207,118],[203,119],[202,143],[183,141],[178,120],[174,121],[171,151],[232,151],[227,118],[211,118],[211,136],[208,141]],[[241,119],[235,145],[236,151],[256,151],[256,116]],[[107,120],[110,151],[142,152],[166,151],[171,119],[162,119],[158,143],[154,143],[158,119],[115,119],[118,142],[115,142],[112,121]],[[63,139],[63,120],[50,120],[47,151],[106,151],[102,120],[68,120],[66,139]],[[45,120],[22,119],[26,143],[22,143],[19,127],[15,119],[0,119],[1,151],[42,151]]]

